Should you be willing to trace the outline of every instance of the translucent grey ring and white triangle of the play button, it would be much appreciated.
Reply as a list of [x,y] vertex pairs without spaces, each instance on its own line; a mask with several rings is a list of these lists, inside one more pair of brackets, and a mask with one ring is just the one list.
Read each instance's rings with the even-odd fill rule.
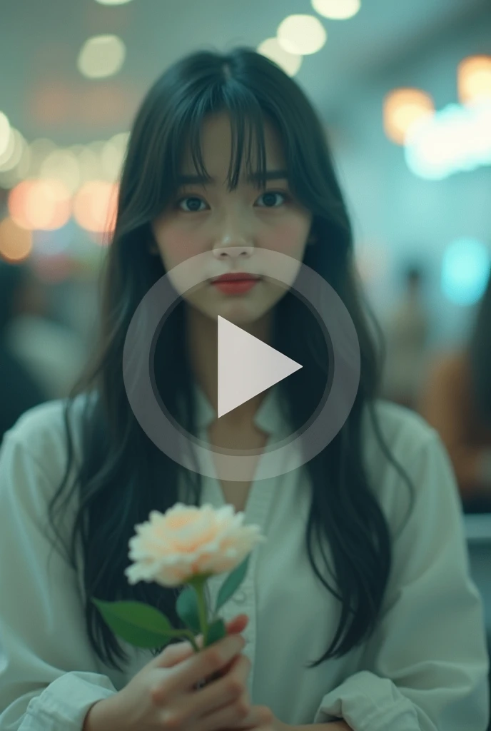
[[[289,439],[261,452],[260,479],[267,480],[308,463],[335,438],[357,397],[361,357],[351,315],[323,276],[279,251],[256,249],[254,261],[256,271],[292,289],[318,319],[330,344],[327,366],[332,375],[327,379],[313,417],[302,428],[292,431]],[[142,298],[124,342],[124,387],[135,418],[164,455],[184,469],[205,477],[216,480],[218,475],[225,482],[250,482],[251,474],[259,469],[255,450],[210,447],[208,439],[183,428],[175,414],[167,410],[159,393],[155,371],[157,333],[167,317],[172,317],[183,293],[208,281],[209,267],[210,252],[197,254],[161,276]],[[218,320],[221,320],[218,321],[218,417],[221,417],[302,366],[226,319]]]

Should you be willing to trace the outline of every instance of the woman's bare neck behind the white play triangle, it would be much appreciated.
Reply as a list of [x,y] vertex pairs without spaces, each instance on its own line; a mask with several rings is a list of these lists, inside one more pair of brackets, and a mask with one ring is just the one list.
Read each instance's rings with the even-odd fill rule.
[[[268,311],[255,322],[240,325],[246,333],[270,342],[272,312]],[[218,321],[207,317],[196,308],[186,303],[186,338],[191,364],[197,384],[202,388],[213,409],[218,409]],[[245,404],[237,406],[229,414],[221,417],[221,422],[229,425],[243,425],[254,418],[254,414],[262,403],[267,392],[259,393]]]

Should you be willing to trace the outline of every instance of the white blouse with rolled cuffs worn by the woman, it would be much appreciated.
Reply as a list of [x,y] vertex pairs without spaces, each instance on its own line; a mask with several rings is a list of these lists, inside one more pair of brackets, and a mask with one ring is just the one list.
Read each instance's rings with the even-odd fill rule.
[[[256,413],[256,424],[273,441],[285,435],[275,394],[271,389]],[[75,429],[83,398],[76,401]],[[198,436],[206,440],[215,414],[202,393],[198,403]],[[80,731],[88,708],[122,689],[152,659],[150,651],[122,642],[131,657],[123,673],[102,664],[85,631],[81,573],[75,575],[58,550],[48,572],[45,508],[66,465],[63,404],[31,409],[0,449],[0,731]],[[245,523],[259,525],[267,541],[254,549],[240,590],[221,614],[226,621],[248,614],[243,652],[251,659],[251,702],[269,706],[287,724],[343,718],[354,731],[485,731],[484,613],[469,573],[449,459],[416,414],[384,402],[377,408],[416,501],[404,522],[408,487],[366,421],[365,463],[394,541],[392,573],[370,640],[340,659],[305,667],[324,654],[340,616],[338,600],[317,580],[305,551],[305,469],[254,481]],[[202,480],[202,502],[224,504],[218,480]],[[66,535],[74,510],[72,504],[66,513]],[[332,585],[332,577],[327,580]],[[222,581],[210,580],[212,601]]]

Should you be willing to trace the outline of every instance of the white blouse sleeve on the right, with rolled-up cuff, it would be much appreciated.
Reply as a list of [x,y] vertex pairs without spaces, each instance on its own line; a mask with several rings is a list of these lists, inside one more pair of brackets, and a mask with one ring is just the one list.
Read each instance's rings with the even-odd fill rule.
[[354,731],[486,731],[482,599],[452,467],[433,430],[407,471],[414,510],[395,538],[381,620],[359,672],[324,696],[313,722],[343,718]]

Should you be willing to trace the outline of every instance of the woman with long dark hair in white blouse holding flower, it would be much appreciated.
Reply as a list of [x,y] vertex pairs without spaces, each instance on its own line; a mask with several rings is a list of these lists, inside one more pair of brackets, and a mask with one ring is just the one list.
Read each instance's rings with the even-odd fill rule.
[[[266,171],[278,170],[268,180]],[[220,484],[181,469],[142,431],[124,388],[123,348],[140,300],[167,271],[205,254],[204,276],[257,273],[264,249],[304,262],[335,289],[357,330],[359,387],[343,428],[303,468],[260,485]],[[129,140],[104,292],[102,351],[65,419],[60,403],[31,412],[0,458],[2,514],[13,515],[0,539],[1,584],[22,577],[1,605],[0,637],[9,639],[0,730],[85,721],[89,731],[327,723],[332,731],[484,731],[482,603],[452,470],[419,417],[375,399],[375,349],[324,129],[275,64],[247,49],[199,52],[151,88]],[[241,295],[210,281],[180,294],[153,360],[172,417],[229,450],[260,452],[286,425],[299,431],[332,376],[308,308],[267,278]],[[221,419],[218,317],[302,364],[281,388]],[[50,557],[53,579],[37,512],[48,499],[58,538],[72,541],[72,556]],[[135,524],[178,499],[245,507],[246,522],[267,536],[244,591],[224,607],[235,637],[186,659],[180,645],[153,659],[123,653],[90,598],[152,603],[180,626],[175,593],[129,586],[123,574]],[[246,618],[233,619],[237,607]],[[195,689],[204,670],[219,667],[220,679]]]

